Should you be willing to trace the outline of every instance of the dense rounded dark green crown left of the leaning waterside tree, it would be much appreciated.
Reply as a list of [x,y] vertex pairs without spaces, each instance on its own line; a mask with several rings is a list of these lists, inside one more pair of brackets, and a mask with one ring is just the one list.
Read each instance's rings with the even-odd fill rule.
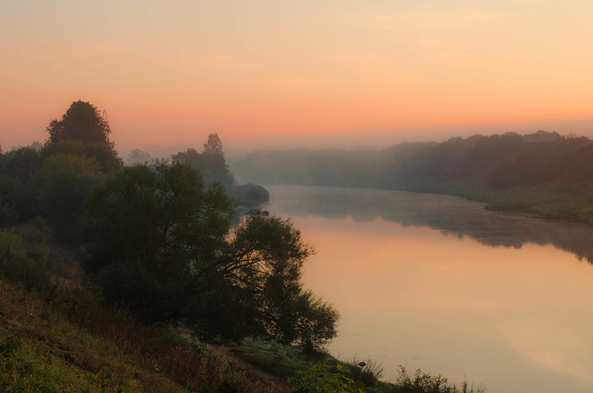
[[186,164],[125,167],[92,196],[85,271],[109,303],[146,321],[174,322],[216,274],[234,211],[218,183],[204,189]]

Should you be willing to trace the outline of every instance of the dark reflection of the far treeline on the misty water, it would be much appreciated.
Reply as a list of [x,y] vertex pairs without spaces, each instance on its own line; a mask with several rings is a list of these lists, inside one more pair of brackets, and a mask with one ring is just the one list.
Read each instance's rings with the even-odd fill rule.
[[326,186],[266,186],[272,213],[303,217],[377,218],[404,227],[429,227],[442,234],[469,236],[487,246],[521,248],[525,243],[552,244],[593,263],[593,228],[484,210],[484,204],[457,196],[406,191]]

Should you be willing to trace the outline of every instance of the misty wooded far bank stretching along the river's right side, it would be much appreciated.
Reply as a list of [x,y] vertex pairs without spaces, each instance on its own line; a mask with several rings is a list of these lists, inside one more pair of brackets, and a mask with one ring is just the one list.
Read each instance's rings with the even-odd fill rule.
[[573,134],[477,134],[381,150],[256,151],[233,169],[250,182],[439,192],[593,223],[593,144]]

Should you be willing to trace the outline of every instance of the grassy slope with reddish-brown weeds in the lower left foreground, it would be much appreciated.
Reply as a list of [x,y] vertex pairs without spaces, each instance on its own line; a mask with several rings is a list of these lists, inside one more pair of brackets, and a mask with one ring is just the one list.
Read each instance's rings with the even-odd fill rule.
[[0,390],[286,391],[237,369],[224,347],[189,344],[174,329],[103,305],[75,278],[56,275],[76,272],[67,252],[50,246],[40,255],[46,234],[20,232],[20,245],[0,233]]

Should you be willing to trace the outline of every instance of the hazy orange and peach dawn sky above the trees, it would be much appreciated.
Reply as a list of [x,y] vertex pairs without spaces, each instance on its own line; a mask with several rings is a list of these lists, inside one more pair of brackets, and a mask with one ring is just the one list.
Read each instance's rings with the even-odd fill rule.
[[593,138],[593,2],[0,0],[0,144],[77,100],[120,155]]

